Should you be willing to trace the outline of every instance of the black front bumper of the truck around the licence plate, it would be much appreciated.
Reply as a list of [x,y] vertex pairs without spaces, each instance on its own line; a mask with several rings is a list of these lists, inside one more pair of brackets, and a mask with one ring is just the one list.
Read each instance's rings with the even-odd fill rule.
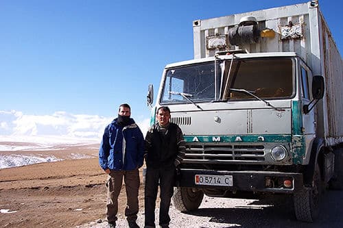
[[[206,186],[195,183],[196,175],[232,175],[233,186]],[[282,185],[268,186],[268,179],[291,179],[292,188],[285,188]],[[281,173],[274,171],[223,171],[223,170],[203,170],[182,168],[177,175],[176,186],[187,188],[216,188],[232,192],[274,192],[293,193],[303,188],[303,174],[301,173]]]

